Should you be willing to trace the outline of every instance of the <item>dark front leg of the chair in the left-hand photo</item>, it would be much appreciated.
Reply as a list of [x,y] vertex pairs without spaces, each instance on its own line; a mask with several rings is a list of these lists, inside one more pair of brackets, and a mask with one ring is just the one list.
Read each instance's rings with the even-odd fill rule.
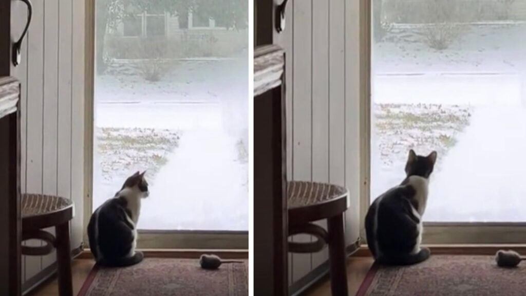
[[69,222],[56,226],[56,248],[58,265],[58,294],[73,296],[71,255],[69,246]]

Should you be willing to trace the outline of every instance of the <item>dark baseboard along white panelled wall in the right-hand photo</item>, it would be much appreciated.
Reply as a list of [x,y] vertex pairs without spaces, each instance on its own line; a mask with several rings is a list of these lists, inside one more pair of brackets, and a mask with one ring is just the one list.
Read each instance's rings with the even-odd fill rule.
[[[360,238],[356,239],[355,242],[351,243],[345,248],[347,256],[353,255],[360,249]],[[325,279],[329,275],[329,261],[321,263],[317,268],[311,270],[304,277],[292,283],[289,286],[290,296],[304,295],[318,282]]]

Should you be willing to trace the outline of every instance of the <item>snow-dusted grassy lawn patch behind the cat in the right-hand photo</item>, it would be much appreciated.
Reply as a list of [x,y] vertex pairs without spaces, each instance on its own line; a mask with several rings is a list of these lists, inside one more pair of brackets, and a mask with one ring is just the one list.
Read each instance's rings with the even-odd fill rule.
[[438,152],[436,174],[470,123],[472,108],[438,104],[375,104],[371,136],[371,197],[403,179],[409,149]]

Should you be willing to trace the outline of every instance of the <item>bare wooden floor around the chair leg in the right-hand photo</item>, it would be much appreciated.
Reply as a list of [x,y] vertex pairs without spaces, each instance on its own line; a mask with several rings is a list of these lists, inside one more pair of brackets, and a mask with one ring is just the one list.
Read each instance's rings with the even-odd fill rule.
[[[347,285],[349,287],[349,296],[356,295],[360,284],[371,268],[373,260],[371,257],[350,257],[347,258]],[[316,287],[308,291],[306,296],[331,296],[330,281],[326,279],[320,282]]]

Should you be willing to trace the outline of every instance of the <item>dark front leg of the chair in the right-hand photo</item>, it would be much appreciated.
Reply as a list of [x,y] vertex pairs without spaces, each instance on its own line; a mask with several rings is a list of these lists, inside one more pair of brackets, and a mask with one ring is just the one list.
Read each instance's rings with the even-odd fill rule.
[[343,214],[327,221],[330,284],[333,296],[347,296],[347,269],[345,256],[345,234],[343,233]]

